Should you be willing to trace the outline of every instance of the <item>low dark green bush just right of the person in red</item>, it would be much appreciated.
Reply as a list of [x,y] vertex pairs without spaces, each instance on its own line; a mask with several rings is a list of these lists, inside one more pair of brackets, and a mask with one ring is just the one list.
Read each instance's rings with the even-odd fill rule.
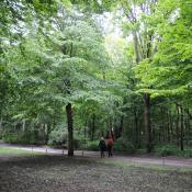
[[128,154],[134,154],[135,153],[135,147],[133,144],[131,144],[126,138],[120,137],[115,143],[114,143],[114,150],[116,151],[126,151]]

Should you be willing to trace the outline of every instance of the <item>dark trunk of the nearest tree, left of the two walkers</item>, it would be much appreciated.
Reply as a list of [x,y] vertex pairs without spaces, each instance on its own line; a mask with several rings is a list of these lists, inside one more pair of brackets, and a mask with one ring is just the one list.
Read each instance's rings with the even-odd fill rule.
[[74,125],[71,103],[66,105],[67,127],[68,127],[68,156],[74,156]]

